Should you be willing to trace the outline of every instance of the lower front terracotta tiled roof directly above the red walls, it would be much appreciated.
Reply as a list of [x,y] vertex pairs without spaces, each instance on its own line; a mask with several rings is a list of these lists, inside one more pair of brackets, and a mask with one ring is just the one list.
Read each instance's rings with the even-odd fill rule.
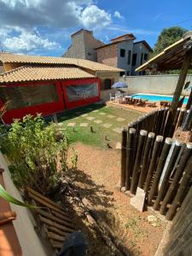
[[59,79],[88,79],[95,76],[78,67],[24,66],[0,74],[0,84]]

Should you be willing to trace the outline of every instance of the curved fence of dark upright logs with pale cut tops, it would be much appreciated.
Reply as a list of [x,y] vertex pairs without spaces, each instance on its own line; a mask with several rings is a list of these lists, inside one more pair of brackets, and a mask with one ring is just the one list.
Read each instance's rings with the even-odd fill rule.
[[[192,143],[163,136],[167,114],[168,109],[161,108],[122,131],[120,185],[131,194],[137,187],[144,189],[146,204],[172,220],[191,186]],[[181,115],[179,109],[175,128],[182,123]]]

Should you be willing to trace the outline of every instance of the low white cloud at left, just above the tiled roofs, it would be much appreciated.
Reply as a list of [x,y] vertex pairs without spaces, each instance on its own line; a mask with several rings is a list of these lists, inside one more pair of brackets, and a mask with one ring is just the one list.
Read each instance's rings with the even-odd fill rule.
[[60,44],[41,38],[38,34],[22,30],[18,37],[8,37],[3,40],[3,48],[14,52],[31,51],[34,49],[58,49]]

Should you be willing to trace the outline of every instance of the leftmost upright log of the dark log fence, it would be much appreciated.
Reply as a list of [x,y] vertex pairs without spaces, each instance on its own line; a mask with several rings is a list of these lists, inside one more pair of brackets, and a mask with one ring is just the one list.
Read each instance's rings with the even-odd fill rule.
[[126,161],[126,141],[127,141],[127,129],[122,131],[121,142],[121,175],[120,175],[120,187],[125,187],[125,161]]

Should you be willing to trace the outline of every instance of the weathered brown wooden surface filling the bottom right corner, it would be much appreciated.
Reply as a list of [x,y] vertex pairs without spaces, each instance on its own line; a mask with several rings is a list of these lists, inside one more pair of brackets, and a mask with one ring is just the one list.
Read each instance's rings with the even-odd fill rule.
[[164,248],[164,255],[192,255],[192,188],[172,221],[172,229]]

